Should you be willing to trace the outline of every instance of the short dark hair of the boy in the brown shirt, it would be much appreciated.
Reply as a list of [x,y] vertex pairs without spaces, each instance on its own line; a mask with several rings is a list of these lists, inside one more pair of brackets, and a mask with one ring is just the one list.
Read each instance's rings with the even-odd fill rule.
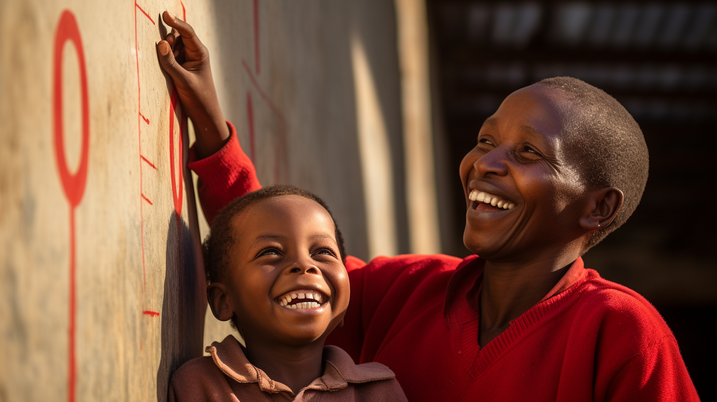
[[217,216],[214,217],[212,226],[209,230],[209,235],[206,236],[206,239],[202,244],[206,280],[210,284],[212,282],[222,281],[222,279],[224,279],[224,275],[227,273],[229,253],[231,253],[234,243],[237,242],[237,239],[234,238],[234,228],[232,227],[232,220],[234,217],[239,215],[239,212],[242,212],[244,208],[257,201],[280,197],[282,195],[299,195],[300,197],[308,198],[309,200],[317,202],[318,205],[321,205],[326,212],[328,212],[328,215],[331,216],[331,220],[333,220],[333,226],[336,228],[335,235],[336,243],[338,244],[338,252],[341,253],[341,260],[346,260],[346,250],[343,246],[343,236],[341,236],[341,230],[338,230],[336,219],[333,218],[333,214],[331,213],[331,210],[328,209],[326,202],[323,202],[323,200],[312,192],[301,190],[298,187],[288,184],[277,184],[249,192],[242,197],[237,197],[223,207],[222,210],[217,213]]

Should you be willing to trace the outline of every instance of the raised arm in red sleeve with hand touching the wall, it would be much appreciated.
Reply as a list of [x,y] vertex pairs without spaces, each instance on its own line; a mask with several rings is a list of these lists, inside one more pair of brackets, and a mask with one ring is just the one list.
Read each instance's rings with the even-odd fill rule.
[[191,25],[164,11],[172,27],[157,43],[162,68],[174,82],[184,112],[194,123],[196,142],[189,153],[189,168],[199,176],[199,201],[209,223],[236,197],[258,190],[252,161],[239,146],[231,123],[224,121],[214,90],[209,51]]

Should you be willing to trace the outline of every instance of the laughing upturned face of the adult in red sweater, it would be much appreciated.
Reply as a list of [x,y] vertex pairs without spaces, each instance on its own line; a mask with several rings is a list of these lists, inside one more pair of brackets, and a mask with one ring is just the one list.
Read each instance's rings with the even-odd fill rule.
[[584,235],[587,188],[562,132],[569,107],[556,91],[532,85],[508,95],[483,123],[460,165],[470,251],[488,261],[528,261]]

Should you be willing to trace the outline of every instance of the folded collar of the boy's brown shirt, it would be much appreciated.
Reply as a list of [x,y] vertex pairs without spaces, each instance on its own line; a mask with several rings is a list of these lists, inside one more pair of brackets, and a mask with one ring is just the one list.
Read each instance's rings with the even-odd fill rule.
[[[257,383],[262,391],[288,392],[295,396],[291,388],[272,380],[263,370],[252,365],[244,355],[239,342],[232,335],[228,335],[222,342],[212,342],[212,346],[206,347],[206,352],[212,355],[214,364],[219,370],[238,383]],[[326,363],[323,375],[304,389],[337,391],[346,388],[348,383],[367,383],[396,378],[393,371],[379,363],[356,365],[348,353],[336,346],[323,348],[323,360]]]

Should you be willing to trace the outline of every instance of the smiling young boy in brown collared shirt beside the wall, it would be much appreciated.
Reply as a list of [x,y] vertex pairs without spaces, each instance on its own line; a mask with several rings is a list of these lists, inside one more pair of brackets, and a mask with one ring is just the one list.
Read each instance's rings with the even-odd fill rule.
[[170,401],[406,401],[380,363],[324,347],[349,286],[341,232],[328,207],[292,186],[229,203],[205,242],[207,297],[229,335],[174,373]]

